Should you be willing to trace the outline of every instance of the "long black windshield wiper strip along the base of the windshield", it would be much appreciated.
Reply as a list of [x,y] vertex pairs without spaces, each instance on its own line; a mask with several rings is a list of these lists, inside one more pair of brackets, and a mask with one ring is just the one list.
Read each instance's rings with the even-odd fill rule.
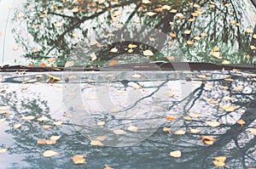
[[4,65],[0,67],[0,71],[114,71],[114,70],[256,70],[256,65],[222,65],[211,63],[196,63],[196,62],[146,62],[119,64],[102,67],[41,67],[41,66],[23,66],[23,65]]

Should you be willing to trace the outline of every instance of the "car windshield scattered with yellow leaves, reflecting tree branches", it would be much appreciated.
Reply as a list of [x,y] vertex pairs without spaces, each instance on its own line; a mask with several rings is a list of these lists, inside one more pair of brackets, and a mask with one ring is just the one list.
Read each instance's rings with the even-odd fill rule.
[[2,65],[255,63],[253,1],[0,2]]

